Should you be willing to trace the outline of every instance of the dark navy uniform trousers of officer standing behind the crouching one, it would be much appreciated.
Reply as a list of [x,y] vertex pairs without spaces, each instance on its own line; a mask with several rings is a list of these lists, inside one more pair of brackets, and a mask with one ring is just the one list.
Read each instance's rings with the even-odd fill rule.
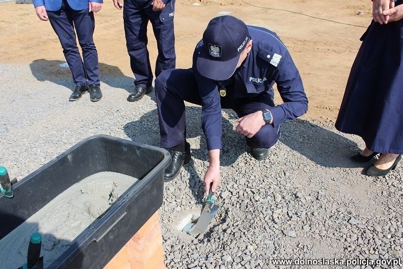
[[175,35],[173,13],[175,0],[168,1],[162,11],[153,11],[152,0],[125,0],[123,21],[126,46],[130,56],[130,67],[137,87],[148,87],[153,82],[150,56],[147,49],[147,24],[153,25],[157,40],[158,57],[155,65],[156,77],[164,70],[175,68]]

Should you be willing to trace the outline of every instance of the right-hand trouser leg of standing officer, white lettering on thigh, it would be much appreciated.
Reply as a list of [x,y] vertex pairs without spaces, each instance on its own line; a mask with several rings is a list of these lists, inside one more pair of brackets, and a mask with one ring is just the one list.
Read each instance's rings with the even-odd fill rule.
[[144,8],[153,25],[154,36],[157,40],[158,56],[155,64],[155,76],[158,77],[164,70],[175,68],[175,35],[173,17],[175,0],[170,0],[161,12],[155,12],[150,6]]

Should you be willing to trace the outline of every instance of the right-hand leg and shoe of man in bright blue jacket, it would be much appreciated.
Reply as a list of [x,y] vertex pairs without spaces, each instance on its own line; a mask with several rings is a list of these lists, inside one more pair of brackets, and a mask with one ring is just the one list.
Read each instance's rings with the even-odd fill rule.
[[84,68],[87,75],[87,83],[91,101],[98,101],[102,97],[99,87],[99,63],[98,52],[95,48],[93,33],[95,29],[94,13],[85,10],[72,10],[68,8],[74,21],[80,47],[83,51]]

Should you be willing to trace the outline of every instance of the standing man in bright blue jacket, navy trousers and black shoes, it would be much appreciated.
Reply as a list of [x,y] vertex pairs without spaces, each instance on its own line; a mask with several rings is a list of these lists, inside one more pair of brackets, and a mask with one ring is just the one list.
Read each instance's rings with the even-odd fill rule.
[[[102,0],[33,0],[36,15],[43,21],[50,21],[63,48],[63,54],[71,70],[75,86],[68,98],[75,101],[89,91],[90,99],[96,102],[102,98],[99,87],[98,52],[93,33],[94,13],[101,10]],[[76,42],[76,32],[83,59]]]

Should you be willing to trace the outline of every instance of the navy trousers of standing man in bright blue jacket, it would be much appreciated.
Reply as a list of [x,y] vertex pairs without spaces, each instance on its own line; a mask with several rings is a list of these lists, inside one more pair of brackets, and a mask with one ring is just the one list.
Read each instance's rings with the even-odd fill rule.
[[[88,9],[73,10],[65,0],[62,1],[60,10],[47,13],[50,24],[59,37],[74,83],[82,86],[100,85],[98,52],[93,39],[94,13],[88,12]],[[77,47],[76,32],[84,62]]]

